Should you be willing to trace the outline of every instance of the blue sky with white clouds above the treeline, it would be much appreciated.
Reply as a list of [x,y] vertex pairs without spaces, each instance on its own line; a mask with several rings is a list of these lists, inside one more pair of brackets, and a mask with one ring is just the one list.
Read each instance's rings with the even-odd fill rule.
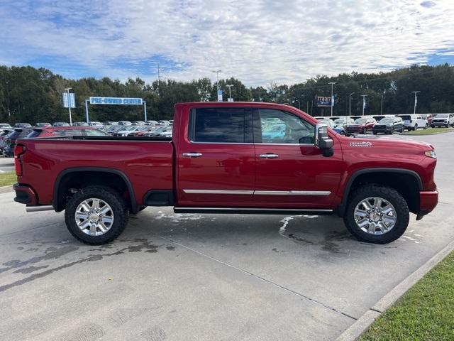
[[454,65],[454,0],[0,0],[0,65],[64,77],[316,75]]

